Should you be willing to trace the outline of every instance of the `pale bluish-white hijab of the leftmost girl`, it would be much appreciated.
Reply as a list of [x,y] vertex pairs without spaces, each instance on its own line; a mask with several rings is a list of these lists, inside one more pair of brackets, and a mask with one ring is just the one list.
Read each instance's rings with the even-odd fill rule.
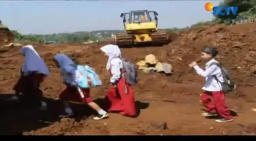
[[32,45],[25,45],[20,49],[20,52],[25,56],[25,62],[22,68],[23,73],[25,73],[24,75],[29,75],[32,72],[50,75],[48,67],[35,49],[33,49]]

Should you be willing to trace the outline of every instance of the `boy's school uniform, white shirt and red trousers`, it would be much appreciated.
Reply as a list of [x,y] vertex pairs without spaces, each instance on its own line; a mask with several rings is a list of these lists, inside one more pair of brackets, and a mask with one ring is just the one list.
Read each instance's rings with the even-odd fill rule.
[[205,66],[205,71],[197,65],[193,66],[199,75],[205,77],[205,85],[202,87],[205,92],[201,95],[201,101],[204,106],[208,108],[208,113],[210,115],[218,113],[221,118],[229,120],[232,119],[232,116],[225,104],[225,94],[222,91],[221,83],[219,82],[224,81],[221,68],[215,64],[211,65],[212,62],[217,61],[214,58],[208,61]]

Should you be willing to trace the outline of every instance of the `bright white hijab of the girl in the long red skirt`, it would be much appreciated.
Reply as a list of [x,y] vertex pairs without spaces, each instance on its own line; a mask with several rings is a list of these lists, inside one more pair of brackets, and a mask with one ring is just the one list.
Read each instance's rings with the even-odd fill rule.
[[102,52],[105,54],[109,55],[109,60],[106,63],[106,70],[109,70],[111,68],[111,60],[115,57],[122,57],[121,56],[121,51],[117,45],[104,45],[103,47],[100,48]]

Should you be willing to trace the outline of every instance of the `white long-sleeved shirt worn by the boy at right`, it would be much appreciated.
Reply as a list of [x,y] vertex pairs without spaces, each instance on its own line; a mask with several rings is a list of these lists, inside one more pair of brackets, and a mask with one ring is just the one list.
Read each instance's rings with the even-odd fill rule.
[[[222,90],[221,82],[224,82],[223,75],[221,73],[221,68],[212,62],[217,62],[215,59],[212,59],[206,63],[205,71],[203,71],[199,66],[193,66],[198,75],[205,77],[205,85],[202,87],[203,90],[209,92],[218,92]],[[212,64],[212,66],[210,66]],[[214,75],[218,81],[214,78]]]

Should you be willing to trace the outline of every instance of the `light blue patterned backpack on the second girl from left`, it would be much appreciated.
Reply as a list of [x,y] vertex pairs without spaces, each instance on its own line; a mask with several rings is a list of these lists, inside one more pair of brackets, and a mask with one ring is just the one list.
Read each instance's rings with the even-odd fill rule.
[[76,83],[78,87],[82,89],[89,89],[91,87],[98,87],[102,85],[100,77],[94,71],[94,68],[91,68],[87,65],[77,65],[76,66]]

